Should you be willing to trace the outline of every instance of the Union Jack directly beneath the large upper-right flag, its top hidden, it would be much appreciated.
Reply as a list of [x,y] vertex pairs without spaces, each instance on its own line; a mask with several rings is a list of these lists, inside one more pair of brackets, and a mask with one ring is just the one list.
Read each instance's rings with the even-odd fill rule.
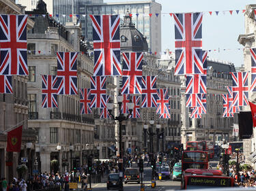
[[186,75],[185,94],[206,94],[206,75]]

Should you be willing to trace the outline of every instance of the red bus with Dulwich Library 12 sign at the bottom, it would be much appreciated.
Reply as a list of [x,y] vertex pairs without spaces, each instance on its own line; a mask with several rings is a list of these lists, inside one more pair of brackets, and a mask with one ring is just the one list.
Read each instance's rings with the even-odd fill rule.
[[186,169],[182,176],[182,189],[233,187],[235,179],[212,169]]

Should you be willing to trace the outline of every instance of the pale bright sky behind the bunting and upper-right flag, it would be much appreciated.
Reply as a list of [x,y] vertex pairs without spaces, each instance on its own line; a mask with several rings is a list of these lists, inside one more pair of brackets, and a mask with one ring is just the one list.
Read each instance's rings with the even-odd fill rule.
[[[127,2],[129,0],[104,0],[109,2]],[[133,0],[141,1],[141,0]],[[244,61],[243,48],[238,43],[238,36],[244,34],[244,14],[235,10],[245,10],[245,6],[256,4],[255,0],[156,0],[162,5],[162,13],[206,12],[203,14],[203,50],[212,59],[225,60],[240,67]],[[229,12],[223,11],[233,10]],[[215,11],[219,11],[216,16]],[[209,12],[213,12],[210,16]],[[167,48],[174,52],[174,20],[169,14],[161,15],[162,52]],[[223,50],[231,49],[231,50]]]

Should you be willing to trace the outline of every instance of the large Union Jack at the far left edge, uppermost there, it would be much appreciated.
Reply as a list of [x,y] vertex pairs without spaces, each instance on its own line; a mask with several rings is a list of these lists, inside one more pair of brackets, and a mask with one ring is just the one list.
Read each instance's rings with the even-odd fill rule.
[[27,15],[0,15],[0,74],[28,75]]

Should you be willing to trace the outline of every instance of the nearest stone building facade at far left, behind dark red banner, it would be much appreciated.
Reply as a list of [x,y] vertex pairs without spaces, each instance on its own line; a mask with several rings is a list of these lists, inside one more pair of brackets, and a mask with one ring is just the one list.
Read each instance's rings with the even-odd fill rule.
[[[1,0],[0,14],[25,14],[24,7],[14,1]],[[27,30],[32,29],[33,21],[27,20]],[[30,130],[27,124],[27,80],[25,75],[12,75],[13,94],[0,94],[0,174],[1,177],[12,179],[18,177],[16,167],[21,164],[21,158],[29,158],[27,167],[31,173],[31,158],[35,153],[35,131]],[[21,151],[6,152],[8,131],[23,125]],[[27,143],[29,143],[27,145]]]

